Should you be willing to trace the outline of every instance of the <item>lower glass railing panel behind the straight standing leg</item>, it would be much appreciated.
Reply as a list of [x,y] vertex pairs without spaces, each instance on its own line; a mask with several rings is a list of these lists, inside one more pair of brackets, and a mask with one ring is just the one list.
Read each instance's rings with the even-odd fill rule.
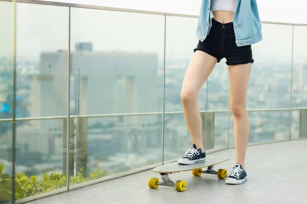
[[[249,144],[289,139],[289,111],[248,112]],[[233,119],[230,115],[230,141],[234,146]]]

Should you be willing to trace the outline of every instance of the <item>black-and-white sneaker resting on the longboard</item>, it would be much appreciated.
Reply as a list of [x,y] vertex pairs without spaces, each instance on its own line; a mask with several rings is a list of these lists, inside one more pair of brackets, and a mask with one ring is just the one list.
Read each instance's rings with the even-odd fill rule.
[[184,156],[178,160],[179,164],[195,164],[198,162],[204,162],[206,160],[206,153],[202,149],[196,149],[196,145],[193,144],[193,148],[187,150]]

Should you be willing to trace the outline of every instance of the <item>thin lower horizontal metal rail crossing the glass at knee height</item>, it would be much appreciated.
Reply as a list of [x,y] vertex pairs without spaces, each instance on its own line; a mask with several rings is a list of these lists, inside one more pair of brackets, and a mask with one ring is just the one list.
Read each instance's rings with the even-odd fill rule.
[[[292,111],[307,110],[307,107],[292,108]],[[271,111],[290,111],[290,108],[279,109],[248,109],[248,112],[271,112]],[[200,111],[200,113],[227,113],[228,110],[208,110]],[[103,117],[118,117],[118,116],[146,116],[146,115],[162,115],[162,112],[147,112],[147,113],[119,113],[119,114],[98,114],[98,115],[71,115],[70,118],[103,118]],[[183,111],[164,112],[165,115],[183,114]],[[47,117],[30,117],[30,118],[16,118],[15,121],[28,121],[28,120],[56,120],[64,119],[67,116],[47,116]],[[11,122],[12,118],[0,119],[0,122]]]

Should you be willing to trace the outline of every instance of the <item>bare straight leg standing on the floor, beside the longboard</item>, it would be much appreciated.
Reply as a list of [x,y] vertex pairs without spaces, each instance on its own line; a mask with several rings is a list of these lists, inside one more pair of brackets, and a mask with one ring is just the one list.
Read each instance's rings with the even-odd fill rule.
[[235,164],[245,169],[245,155],[249,136],[246,98],[252,64],[229,66],[230,109],[234,121]]

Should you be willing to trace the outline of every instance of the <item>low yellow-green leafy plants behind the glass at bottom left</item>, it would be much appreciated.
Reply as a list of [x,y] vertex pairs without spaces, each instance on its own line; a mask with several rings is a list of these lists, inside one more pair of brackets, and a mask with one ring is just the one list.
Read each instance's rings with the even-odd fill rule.
[[[0,203],[9,202],[12,200],[12,176],[9,174],[2,174],[4,164],[0,163]],[[106,176],[106,171],[96,170],[95,173],[90,172],[89,177],[83,177],[83,167],[80,168],[77,176],[70,176],[70,185],[92,181]],[[42,174],[42,180],[38,181],[39,176],[31,175],[30,178],[24,173],[15,174],[15,199],[22,199],[46,193],[66,186],[66,176],[59,173]]]

